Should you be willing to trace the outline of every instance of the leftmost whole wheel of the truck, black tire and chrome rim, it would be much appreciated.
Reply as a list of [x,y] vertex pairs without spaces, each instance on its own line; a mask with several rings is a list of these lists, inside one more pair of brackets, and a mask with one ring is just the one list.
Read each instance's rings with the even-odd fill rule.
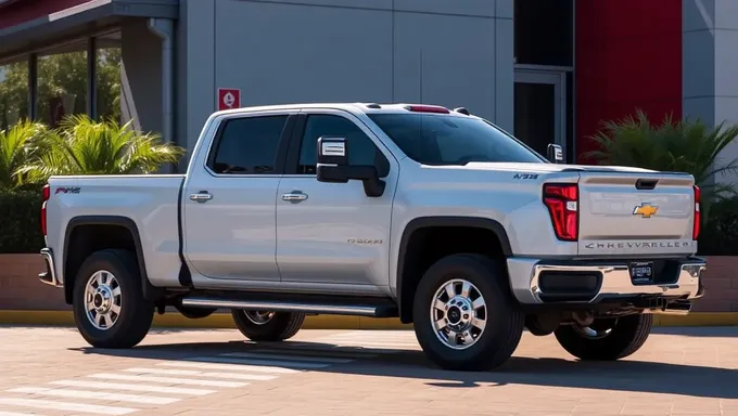
[[97,348],[130,348],[143,340],[154,303],[143,298],[136,256],[106,249],[85,260],[74,283],[73,311],[82,338]]

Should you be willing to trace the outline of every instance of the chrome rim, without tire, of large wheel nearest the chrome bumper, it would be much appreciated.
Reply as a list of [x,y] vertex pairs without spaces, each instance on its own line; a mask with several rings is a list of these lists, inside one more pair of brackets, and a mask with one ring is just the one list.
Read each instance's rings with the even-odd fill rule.
[[446,347],[466,350],[480,339],[487,320],[482,292],[465,280],[446,282],[433,297],[431,322],[435,336]]

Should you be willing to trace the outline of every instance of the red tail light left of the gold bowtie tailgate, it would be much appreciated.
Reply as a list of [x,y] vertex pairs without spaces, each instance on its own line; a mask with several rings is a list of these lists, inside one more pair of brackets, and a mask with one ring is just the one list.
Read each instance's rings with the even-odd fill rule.
[[545,183],[544,205],[551,216],[556,237],[562,242],[578,238],[580,190],[575,183]]

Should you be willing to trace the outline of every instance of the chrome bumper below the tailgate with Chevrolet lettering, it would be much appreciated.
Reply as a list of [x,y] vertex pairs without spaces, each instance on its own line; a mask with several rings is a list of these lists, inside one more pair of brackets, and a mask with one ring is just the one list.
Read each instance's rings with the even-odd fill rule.
[[[658,260],[654,283],[633,283],[629,261],[508,259],[510,287],[523,304],[600,303],[634,298],[692,300],[703,295],[707,262],[690,257]],[[548,282],[544,282],[544,280]],[[552,282],[563,283],[556,287]]]

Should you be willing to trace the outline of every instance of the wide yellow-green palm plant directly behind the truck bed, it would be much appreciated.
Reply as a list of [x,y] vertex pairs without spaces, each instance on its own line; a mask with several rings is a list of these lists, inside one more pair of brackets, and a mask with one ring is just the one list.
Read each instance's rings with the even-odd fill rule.
[[179,160],[183,150],[141,133],[131,122],[94,121],[86,115],[65,117],[46,148],[17,170],[25,180],[43,182],[56,174],[151,173]]

